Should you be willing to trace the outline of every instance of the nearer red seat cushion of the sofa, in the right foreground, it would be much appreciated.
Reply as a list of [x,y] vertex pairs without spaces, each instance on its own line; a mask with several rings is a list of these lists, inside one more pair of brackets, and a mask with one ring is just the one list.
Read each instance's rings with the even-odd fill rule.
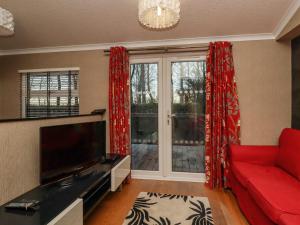
[[278,223],[283,214],[300,215],[300,182],[280,168],[265,170],[248,179],[247,189],[262,211]]

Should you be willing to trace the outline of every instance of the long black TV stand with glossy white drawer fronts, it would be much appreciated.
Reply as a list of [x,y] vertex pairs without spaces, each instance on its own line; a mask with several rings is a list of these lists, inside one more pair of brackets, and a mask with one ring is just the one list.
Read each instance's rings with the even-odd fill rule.
[[80,176],[38,186],[11,202],[38,200],[40,208],[27,213],[7,210],[4,204],[0,206],[1,225],[83,225],[83,219],[128,176],[128,166],[130,156],[120,156],[116,162],[98,163]]

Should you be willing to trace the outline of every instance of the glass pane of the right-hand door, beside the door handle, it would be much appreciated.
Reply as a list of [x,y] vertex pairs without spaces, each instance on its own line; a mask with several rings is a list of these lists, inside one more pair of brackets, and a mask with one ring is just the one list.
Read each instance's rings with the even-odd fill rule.
[[204,173],[205,65],[171,62],[172,172]]

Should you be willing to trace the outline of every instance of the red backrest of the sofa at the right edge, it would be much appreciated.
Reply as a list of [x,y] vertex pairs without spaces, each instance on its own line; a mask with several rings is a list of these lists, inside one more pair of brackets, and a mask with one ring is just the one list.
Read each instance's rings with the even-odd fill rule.
[[282,131],[276,164],[300,180],[300,130],[286,128]]

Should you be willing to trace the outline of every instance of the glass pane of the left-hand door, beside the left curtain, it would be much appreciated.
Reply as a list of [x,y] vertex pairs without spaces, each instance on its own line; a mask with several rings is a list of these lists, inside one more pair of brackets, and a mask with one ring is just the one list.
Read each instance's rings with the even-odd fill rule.
[[133,170],[159,170],[158,73],[158,63],[130,65]]

